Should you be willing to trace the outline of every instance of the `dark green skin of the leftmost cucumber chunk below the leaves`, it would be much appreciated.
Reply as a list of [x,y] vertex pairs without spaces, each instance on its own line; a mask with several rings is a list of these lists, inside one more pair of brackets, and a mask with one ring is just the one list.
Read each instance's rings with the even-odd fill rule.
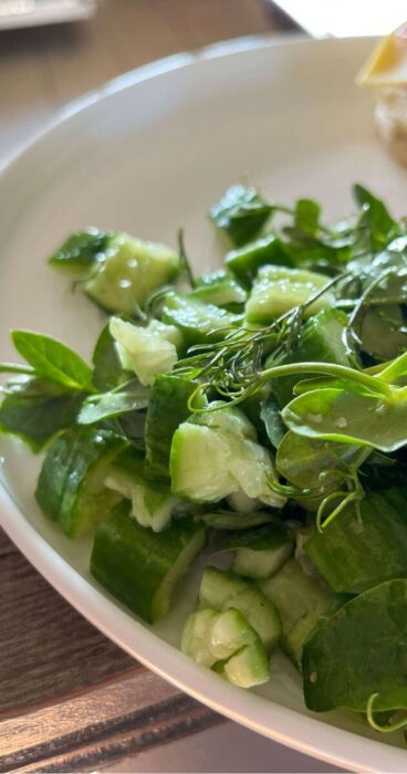
[[[86,477],[101,457],[113,458],[123,449],[123,441],[97,430],[67,430],[50,447],[43,461],[35,499],[48,519],[56,522],[67,537],[88,531],[87,514],[81,510],[81,495]],[[117,495],[108,496],[106,505],[117,504]]]

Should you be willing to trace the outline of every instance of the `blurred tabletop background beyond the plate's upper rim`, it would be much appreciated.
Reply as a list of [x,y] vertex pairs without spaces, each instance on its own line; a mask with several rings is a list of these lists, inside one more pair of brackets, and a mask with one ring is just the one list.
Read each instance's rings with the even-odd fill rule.
[[240,35],[384,34],[403,0],[0,0],[0,163],[66,102],[152,60]]

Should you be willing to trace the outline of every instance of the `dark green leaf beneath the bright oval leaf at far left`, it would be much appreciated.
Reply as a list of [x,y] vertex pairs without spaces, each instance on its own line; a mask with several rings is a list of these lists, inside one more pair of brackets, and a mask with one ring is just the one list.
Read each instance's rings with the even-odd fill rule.
[[55,432],[75,422],[82,399],[44,379],[15,381],[0,406],[0,432],[18,436],[39,451]]

